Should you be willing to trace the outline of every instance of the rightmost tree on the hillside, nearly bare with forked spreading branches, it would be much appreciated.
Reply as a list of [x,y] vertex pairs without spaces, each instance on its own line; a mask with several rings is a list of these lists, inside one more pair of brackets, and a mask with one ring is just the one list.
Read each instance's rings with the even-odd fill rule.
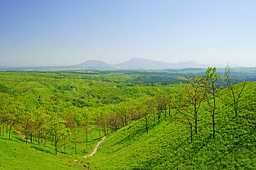
[[[222,99],[222,101],[226,102],[227,104],[231,105],[234,108],[235,117],[237,117],[239,98],[240,98],[242,91],[244,89],[244,86],[246,84],[247,77],[244,79],[242,88],[240,90],[238,90],[238,87],[235,86],[236,82],[238,81],[238,78],[235,78],[235,80],[232,82],[231,77],[230,77],[231,71],[232,70],[231,70],[229,64],[227,64],[227,66],[225,68],[225,72],[224,72],[225,79],[224,79],[223,84],[228,88],[228,91],[226,93],[225,98]],[[231,99],[231,102],[227,100],[228,98]]]

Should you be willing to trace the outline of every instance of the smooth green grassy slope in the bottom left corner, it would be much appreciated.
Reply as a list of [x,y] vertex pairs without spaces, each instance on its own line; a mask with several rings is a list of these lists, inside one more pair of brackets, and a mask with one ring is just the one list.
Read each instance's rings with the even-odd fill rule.
[[[26,145],[25,139],[12,133],[0,137],[0,170],[83,170],[84,164],[75,162],[77,156],[62,153],[55,155],[48,147],[34,143]],[[81,158],[80,158],[81,159]]]

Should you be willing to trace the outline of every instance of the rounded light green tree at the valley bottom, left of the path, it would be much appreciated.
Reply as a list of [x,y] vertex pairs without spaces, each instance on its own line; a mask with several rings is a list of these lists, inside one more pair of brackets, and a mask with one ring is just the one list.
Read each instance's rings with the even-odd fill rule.
[[64,145],[68,128],[65,127],[64,120],[56,116],[50,118],[48,127],[54,143],[55,154],[57,154],[59,148]]

